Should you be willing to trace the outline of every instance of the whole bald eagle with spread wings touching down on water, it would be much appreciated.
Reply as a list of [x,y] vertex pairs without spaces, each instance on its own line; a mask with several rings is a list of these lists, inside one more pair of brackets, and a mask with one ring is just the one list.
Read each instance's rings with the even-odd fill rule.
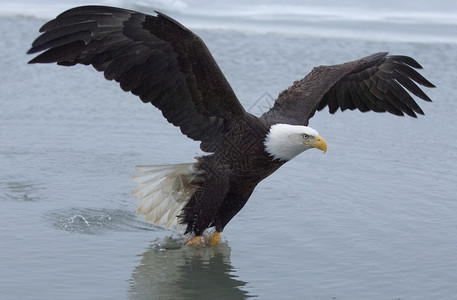
[[327,150],[308,127],[316,111],[389,112],[416,117],[411,97],[431,101],[417,86],[434,87],[408,56],[376,53],[314,68],[279,94],[261,117],[246,112],[204,42],[189,29],[155,12],[83,6],[44,24],[29,63],[92,65],[124,91],[162,111],[207,155],[193,163],[137,166],[137,212],[153,224],[185,226],[187,245],[210,244],[241,210],[257,184],[301,152]]

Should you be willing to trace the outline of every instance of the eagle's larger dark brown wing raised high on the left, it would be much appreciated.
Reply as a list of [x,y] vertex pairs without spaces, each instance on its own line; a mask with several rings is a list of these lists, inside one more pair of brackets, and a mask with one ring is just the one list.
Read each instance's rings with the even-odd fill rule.
[[164,14],[83,6],[40,32],[28,53],[46,51],[30,63],[93,65],[194,140],[217,140],[245,115],[203,41]]

